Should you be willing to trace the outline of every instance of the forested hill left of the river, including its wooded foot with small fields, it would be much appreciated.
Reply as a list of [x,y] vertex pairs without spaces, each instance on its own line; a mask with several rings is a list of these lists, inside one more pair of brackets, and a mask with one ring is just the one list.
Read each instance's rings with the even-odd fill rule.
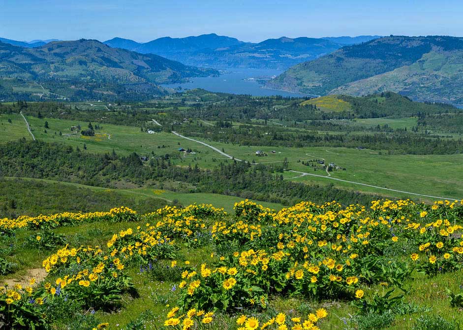
[[73,95],[76,99],[116,99],[130,94],[131,99],[146,99],[166,93],[158,84],[215,74],[218,71],[213,69],[112,48],[97,40],[52,41],[35,48],[0,42],[0,92],[3,86],[9,90],[4,92],[8,95],[15,89],[5,79],[15,79],[23,86],[21,89],[28,82],[34,86],[44,84],[48,88],[42,86],[36,93],[40,98],[50,89],[61,98]]

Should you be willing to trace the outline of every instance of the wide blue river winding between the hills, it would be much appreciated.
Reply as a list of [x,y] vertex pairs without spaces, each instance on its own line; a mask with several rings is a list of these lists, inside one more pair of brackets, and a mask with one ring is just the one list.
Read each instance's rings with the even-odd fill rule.
[[284,97],[308,97],[309,95],[290,93],[274,89],[262,88],[256,78],[270,78],[277,76],[282,71],[274,69],[250,69],[227,68],[220,70],[225,72],[218,77],[189,78],[183,84],[164,84],[162,86],[177,89],[179,86],[185,89],[202,88],[211,92],[248,94],[252,96],[281,95]]

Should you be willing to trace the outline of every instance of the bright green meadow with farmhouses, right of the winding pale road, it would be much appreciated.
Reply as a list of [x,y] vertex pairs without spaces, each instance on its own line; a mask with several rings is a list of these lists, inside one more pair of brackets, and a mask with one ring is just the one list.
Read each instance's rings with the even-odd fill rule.
[[[200,139],[198,139],[200,140]],[[279,148],[267,146],[239,146],[220,142],[209,144],[223,150],[237,159],[262,164],[281,165],[286,158],[289,169],[326,175],[320,167],[317,171],[302,165],[302,161],[325,159],[325,163],[335,163],[345,167],[346,171],[335,170],[332,177],[348,181],[370,184],[373,186],[409,191],[411,193],[445,198],[460,199],[463,196],[463,155],[387,155],[386,151],[357,150],[351,148]],[[255,152],[262,150],[266,157],[256,157]],[[273,154],[272,150],[276,153]],[[301,161],[299,163],[298,161]],[[293,177],[296,173],[291,174]],[[288,177],[291,177],[288,176]],[[390,197],[417,199],[419,196],[396,193],[382,189],[340,181],[305,176],[295,181],[331,184],[366,193],[382,194]],[[424,198],[429,200],[429,198]]]

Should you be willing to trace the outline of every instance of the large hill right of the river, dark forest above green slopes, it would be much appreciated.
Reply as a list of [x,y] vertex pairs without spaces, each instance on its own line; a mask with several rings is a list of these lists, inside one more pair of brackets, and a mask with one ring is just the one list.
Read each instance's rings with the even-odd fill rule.
[[389,36],[293,66],[266,86],[316,95],[392,91],[414,100],[461,103],[462,54],[459,37]]

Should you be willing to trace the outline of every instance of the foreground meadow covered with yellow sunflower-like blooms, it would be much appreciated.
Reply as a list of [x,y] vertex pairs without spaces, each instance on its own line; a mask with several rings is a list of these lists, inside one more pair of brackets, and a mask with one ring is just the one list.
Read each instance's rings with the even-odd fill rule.
[[[13,298],[11,306],[29,304],[29,322],[50,322],[54,329],[77,327],[77,321],[89,329],[100,325],[125,330],[134,322],[148,330],[164,329],[164,324],[176,329],[176,322],[189,318],[211,330],[237,330],[241,320],[259,322],[260,327],[272,318],[290,329],[310,317],[306,326],[321,330],[370,329],[365,328],[369,324],[412,329],[435,317],[441,324],[463,322],[458,298],[449,299],[462,294],[463,202],[432,206],[377,201],[371,208],[300,203],[274,214],[248,201],[234,208],[229,215],[199,205],[146,215],[117,208],[79,217],[3,219],[2,229],[14,235],[1,238],[10,246],[2,258],[20,264],[8,264],[13,271],[0,280],[16,285],[13,297],[27,297]],[[449,222],[439,220],[443,214]],[[394,220],[366,221],[372,216]],[[402,216],[407,221],[401,223]],[[432,229],[421,233],[427,224]],[[246,232],[237,226],[259,227]],[[146,245],[145,228],[156,228],[167,242]],[[442,239],[442,231],[454,235]],[[196,239],[208,232],[212,236]],[[335,233],[346,235],[346,242]],[[134,244],[147,254],[132,254]],[[91,253],[79,249],[81,245]],[[304,263],[307,254],[311,257]],[[37,284],[29,284],[31,270]],[[102,300],[98,290],[118,295]],[[0,301],[2,295],[4,291]],[[76,304],[92,312],[82,314]],[[202,310],[210,314],[196,315]]]

